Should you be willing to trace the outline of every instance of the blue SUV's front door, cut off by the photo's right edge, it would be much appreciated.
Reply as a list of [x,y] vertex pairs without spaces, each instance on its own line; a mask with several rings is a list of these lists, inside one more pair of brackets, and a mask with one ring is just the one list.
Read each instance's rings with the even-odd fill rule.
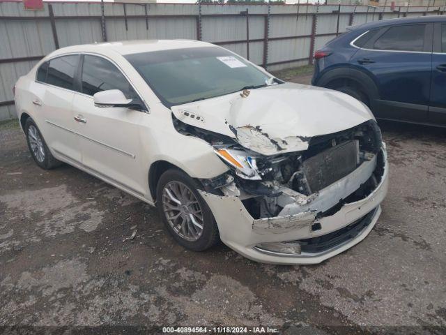
[[434,29],[429,122],[444,126],[446,125],[446,23],[438,23]]

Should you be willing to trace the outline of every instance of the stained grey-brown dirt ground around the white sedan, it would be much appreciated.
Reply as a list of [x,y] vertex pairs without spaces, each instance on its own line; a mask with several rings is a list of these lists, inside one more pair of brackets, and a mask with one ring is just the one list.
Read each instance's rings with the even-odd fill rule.
[[[288,77],[309,80],[308,73]],[[376,227],[321,265],[286,267],[249,261],[224,245],[185,250],[147,204],[68,165],[40,170],[20,128],[3,124],[0,326],[445,334],[446,132],[380,126],[390,189]]]

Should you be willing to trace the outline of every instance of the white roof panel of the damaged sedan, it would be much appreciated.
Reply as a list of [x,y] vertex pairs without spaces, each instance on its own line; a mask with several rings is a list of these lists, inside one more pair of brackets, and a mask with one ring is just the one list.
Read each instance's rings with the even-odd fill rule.
[[123,40],[116,42],[91,43],[84,45],[72,45],[62,47],[52,53],[65,54],[68,52],[98,52],[107,54],[117,52],[118,54],[138,54],[141,52],[153,52],[161,50],[184,49],[189,47],[213,47],[215,45],[199,40]]

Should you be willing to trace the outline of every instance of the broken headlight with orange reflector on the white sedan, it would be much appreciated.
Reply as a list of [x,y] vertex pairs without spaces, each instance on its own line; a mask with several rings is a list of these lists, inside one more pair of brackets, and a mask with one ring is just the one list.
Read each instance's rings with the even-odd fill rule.
[[224,163],[236,171],[238,177],[251,180],[262,179],[257,169],[256,158],[251,156],[247,151],[217,147],[215,147],[214,151]]

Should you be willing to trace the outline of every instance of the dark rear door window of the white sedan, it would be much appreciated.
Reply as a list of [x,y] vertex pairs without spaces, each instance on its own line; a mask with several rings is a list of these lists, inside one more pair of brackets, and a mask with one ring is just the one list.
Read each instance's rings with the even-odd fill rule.
[[54,58],[49,61],[47,82],[64,89],[73,89],[73,78],[77,70],[78,55]]

